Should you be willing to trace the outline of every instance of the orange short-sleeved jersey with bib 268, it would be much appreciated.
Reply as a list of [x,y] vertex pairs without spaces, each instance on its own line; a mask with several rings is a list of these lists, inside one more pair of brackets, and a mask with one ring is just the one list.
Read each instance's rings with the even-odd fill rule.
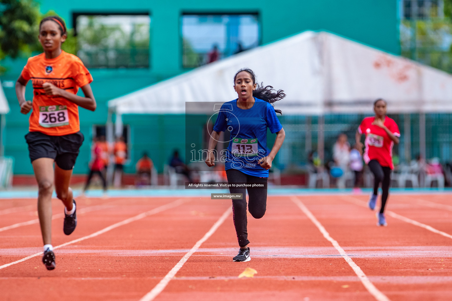
[[77,94],[79,87],[91,83],[93,77],[77,56],[61,51],[56,58],[46,59],[41,53],[28,59],[21,76],[33,83],[30,132],[62,136],[80,131],[79,107],[64,97],[47,95],[42,88],[43,83],[52,83]]

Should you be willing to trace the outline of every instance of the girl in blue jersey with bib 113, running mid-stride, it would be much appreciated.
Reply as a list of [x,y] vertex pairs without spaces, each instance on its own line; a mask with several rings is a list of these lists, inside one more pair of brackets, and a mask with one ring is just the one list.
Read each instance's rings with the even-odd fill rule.
[[[264,188],[230,187],[231,194],[241,193],[242,199],[232,200],[232,213],[235,232],[239,241],[239,254],[234,261],[250,261],[250,248],[247,245],[246,229],[246,190],[248,190],[248,209],[254,218],[262,218],[267,205],[268,169],[284,141],[285,133],[276,116],[276,110],[270,104],[286,96],[282,90],[275,91],[273,87],[256,83],[254,72],[250,69],[240,69],[234,76],[234,89],[238,98],[221,106],[217,121],[209,141],[209,152],[206,164],[215,165],[214,149],[220,133],[231,132],[225,159],[226,176],[229,184],[257,183]],[[267,128],[274,134],[276,140],[271,151],[267,149]]]

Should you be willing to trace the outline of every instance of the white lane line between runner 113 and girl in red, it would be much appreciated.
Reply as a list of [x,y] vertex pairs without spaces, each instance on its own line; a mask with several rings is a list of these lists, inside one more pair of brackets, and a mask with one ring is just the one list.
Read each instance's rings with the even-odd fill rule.
[[350,267],[353,269],[353,271],[358,276],[359,280],[363,283],[364,287],[366,287],[367,291],[371,293],[372,296],[375,297],[378,301],[390,301],[389,298],[380,292],[377,287],[373,285],[373,283],[367,278],[366,274],[363,272],[363,270],[353,262],[353,260],[350,258],[350,256],[347,255],[347,253],[342,249],[342,247],[339,245],[337,241],[335,241],[331,236],[330,233],[328,233],[325,229],[325,227],[322,226],[322,224],[315,218],[315,216],[309,211],[308,208],[306,208],[305,204],[301,202],[300,199],[298,199],[296,196],[291,196],[292,202],[294,202],[298,208],[303,211],[303,213],[306,214],[306,216],[311,220],[311,222],[314,223],[314,225],[319,229],[319,231],[323,234],[323,236],[326,238],[327,241],[330,241],[331,244],[338,250],[339,254],[345,259],[345,261],[350,265]]

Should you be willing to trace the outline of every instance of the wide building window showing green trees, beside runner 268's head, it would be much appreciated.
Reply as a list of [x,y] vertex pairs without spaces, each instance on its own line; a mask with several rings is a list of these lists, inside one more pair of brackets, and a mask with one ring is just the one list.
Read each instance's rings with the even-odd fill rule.
[[75,14],[77,56],[88,68],[149,68],[146,14]]

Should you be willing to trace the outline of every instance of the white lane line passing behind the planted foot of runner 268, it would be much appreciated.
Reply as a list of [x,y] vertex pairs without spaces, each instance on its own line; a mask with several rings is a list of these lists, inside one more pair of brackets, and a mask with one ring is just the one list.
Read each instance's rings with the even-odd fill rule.
[[[160,213],[160,212],[165,211],[167,209],[179,206],[180,204],[182,204],[182,203],[184,203],[186,201],[188,201],[188,199],[176,199],[174,202],[171,202],[169,204],[165,204],[165,205],[159,206],[157,208],[154,208],[152,210],[146,211],[144,213],[140,213],[140,214],[138,214],[138,215],[136,215],[136,216],[134,216],[132,218],[127,218],[127,219],[123,220],[122,222],[117,222],[117,223],[115,223],[115,224],[113,224],[111,226],[108,226],[108,227],[106,227],[106,228],[104,228],[102,230],[94,232],[93,234],[77,238],[77,239],[75,239],[73,241],[65,242],[64,244],[61,244],[61,245],[57,245],[57,246],[53,247],[53,249],[62,248],[64,246],[66,246],[66,245],[71,245],[71,244],[74,244],[74,243],[79,242],[79,241],[84,241],[86,239],[93,238],[95,236],[99,236],[101,234],[104,234],[105,232],[108,232],[108,231],[113,230],[115,228],[118,228],[120,226],[127,225],[127,224],[129,224],[131,222],[135,222],[135,221],[137,221],[139,219],[146,218],[147,216],[150,216],[150,215],[153,215],[153,214],[156,214],[156,213]],[[9,264],[0,265],[0,269],[5,269],[6,267],[9,267],[10,265],[18,264],[18,263],[20,263],[22,261],[28,260],[28,259],[36,257],[38,255],[42,255],[42,252],[39,252],[39,253],[30,255],[30,256],[27,256],[25,258],[19,259],[19,260],[14,261],[14,262],[11,262]]]

